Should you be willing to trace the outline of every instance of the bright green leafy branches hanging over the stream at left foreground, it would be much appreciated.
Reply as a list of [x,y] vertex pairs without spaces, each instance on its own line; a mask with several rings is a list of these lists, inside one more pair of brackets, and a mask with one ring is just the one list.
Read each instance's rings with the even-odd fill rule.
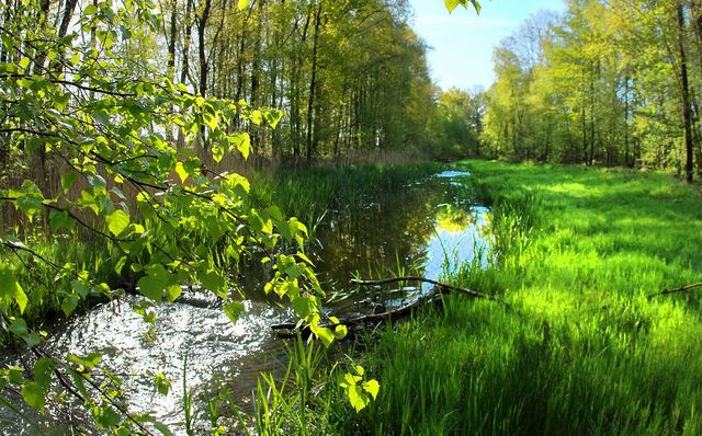
[[[306,226],[274,206],[251,207],[245,177],[207,167],[227,154],[249,156],[250,136],[231,133],[233,126],[275,127],[281,112],[193,94],[146,59],[127,56],[136,46],[147,49],[160,24],[148,1],[72,8],[25,1],[3,11],[0,147],[5,158],[61,175],[59,186],[46,177],[26,179],[0,191],[0,200],[21,213],[26,225],[102,240],[112,256],[110,268],[117,276],[128,269],[152,303],[172,302],[183,286],[196,284],[224,301],[233,322],[244,290],[231,274],[240,260],[261,259],[272,272],[267,292],[287,298],[328,346],[335,332],[318,325],[325,292],[302,251]],[[58,28],[52,25],[55,19]],[[169,140],[174,133],[182,146]],[[200,154],[206,159],[197,150],[205,150]],[[49,286],[63,289],[48,292],[49,298],[60,299],[66,315],[91,296],[118,290],[102,280],[105,275],[95,275],[95,265],[60,263],[50,251],[54,256],[43,255],[30,236],[18,226],[0,244],[22,266],[48,266]],[[282,251],[283,244],[292,251]],[[148,415],[128,413],[121,380],[99,368],[100,355],[45,353],[43,336],[23,318],[27,303],[41,300],[39,290],[22,286],[18,266],[3,263],[0,269],[0,323],[37,359],[27,372],[3,369],[1,387],[12,387],[44,411],[49,386],[57,381],[87,408],[98,428],[125,434],[154,426],[167,434]],[[144,307],[137,309],[155,321]],[[98,372],[104,381],[92,376]],[[167,380],[156,377],[155,383],[167,391]]]

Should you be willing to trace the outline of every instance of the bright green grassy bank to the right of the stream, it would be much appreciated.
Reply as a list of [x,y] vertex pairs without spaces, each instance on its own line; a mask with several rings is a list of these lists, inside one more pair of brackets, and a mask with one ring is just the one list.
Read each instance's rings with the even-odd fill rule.
[[387,328],[363,357],[377,401],[332,427],[702,434],[700,298],[649,298],[702,279],[699,191],[630,171],[465,165],[494,208],[497,262],[449,279],[506,303],[448,298]]

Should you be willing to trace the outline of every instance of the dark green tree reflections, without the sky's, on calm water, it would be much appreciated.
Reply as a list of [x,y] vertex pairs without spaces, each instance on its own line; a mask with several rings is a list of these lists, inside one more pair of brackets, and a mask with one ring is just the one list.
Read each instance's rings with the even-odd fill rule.
[[467,198],[461,198],[465,193],[460,191],[450,180],[431,179],[401,192],[380,193],[364,209],[335,214],[317,230],[320,278],[344,285],[355,272],[389,275],[397,260],[406,268],[420,264],[434,226],[462,230],[475,219],[461,205]]

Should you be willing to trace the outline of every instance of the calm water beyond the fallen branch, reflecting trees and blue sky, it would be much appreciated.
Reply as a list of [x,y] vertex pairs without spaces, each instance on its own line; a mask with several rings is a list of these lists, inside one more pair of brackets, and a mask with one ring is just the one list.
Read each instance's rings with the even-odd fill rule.
[[485,246],[487,209],[474,205],[462,179],[445,171],[399,193],[380,193],[371,207],[337,214],[318,229],[322,246],[315,253],[329,284],[405,273],[439,278],[444,260],[456,264]]

